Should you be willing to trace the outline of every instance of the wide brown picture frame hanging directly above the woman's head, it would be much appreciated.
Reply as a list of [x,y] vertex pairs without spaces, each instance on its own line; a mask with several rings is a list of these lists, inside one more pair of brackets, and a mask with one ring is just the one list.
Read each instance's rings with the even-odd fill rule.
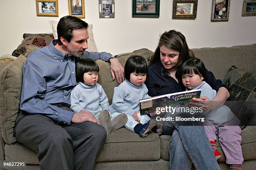
[[172,18],[197,18],[197,0],[174,0]]

